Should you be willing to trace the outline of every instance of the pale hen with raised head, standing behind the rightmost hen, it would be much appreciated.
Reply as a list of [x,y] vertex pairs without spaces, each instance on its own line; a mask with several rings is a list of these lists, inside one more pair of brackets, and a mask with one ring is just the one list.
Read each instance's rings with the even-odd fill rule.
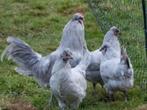
[[119,30],[115,26],[111,27],[104,37],[101,48],[90,52],[91,63],[86,71],[86,79],[93,83],[94,92],[97,83],[103,86],[103,80],[100,75],[101,62],[120,57],[118,34]]

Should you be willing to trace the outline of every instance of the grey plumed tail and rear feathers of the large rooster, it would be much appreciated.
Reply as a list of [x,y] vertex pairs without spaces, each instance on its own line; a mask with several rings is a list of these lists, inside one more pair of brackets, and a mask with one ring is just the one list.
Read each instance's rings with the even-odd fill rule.
[[2,53],[1,59],[6,55],[8,59],[12,59],[19,67],[16,71],[28,75],[35,76],[39,80],[39,84],[46,84],[50,78],[49,70],[55,61],[55,54],[42,57],[34,52],[28,44],[20,39],[8,37],[8,47]]

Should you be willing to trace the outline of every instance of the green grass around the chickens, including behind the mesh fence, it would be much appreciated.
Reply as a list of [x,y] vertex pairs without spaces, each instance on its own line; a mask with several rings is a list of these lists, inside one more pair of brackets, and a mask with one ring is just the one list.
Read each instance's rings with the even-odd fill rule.
[[[128,103],[124,102],[121,93],[115,95],[115,102],[105,103],[102,100],[105,96],[104,90],[98,86],[97,95],[94,97],[89,83],[87,96],[79,110],[140,110],[147,102],[147,71],[140,1],[92,2],[95,10],[99,9],[99,26],[84,0],[0,0],[0,53],[7,45],[7,36],[13,35],[26,41],[37,52],[47,55],[59,45],[62,29],[75,12],[83,12],[85,15],[86,40],[90,50],[101,45],[104,35],[100,31],[101,27],[105,32],[111,24],[116,25],[122,31],[121,43],[127,47],[133,63],[136,85],[129,91]],[[18,75],[14,71],[15,66],[11,61],[0,62],[0,107],[10,107],[19,100],[32,104],[37,110],[43,110],[48,103],[50,90],[40,88],[33,78]],[[56,102],[52,108],[58,109]]]

